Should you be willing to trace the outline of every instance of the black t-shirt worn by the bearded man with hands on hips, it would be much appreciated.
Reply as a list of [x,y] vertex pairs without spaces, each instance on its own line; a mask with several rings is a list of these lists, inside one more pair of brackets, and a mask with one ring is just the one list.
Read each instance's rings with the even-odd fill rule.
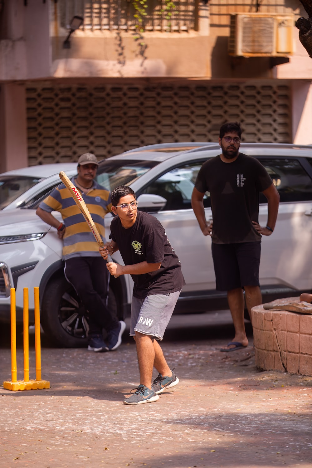
[[260,241],[252,221],[258,222],[259,193],[271,183],[264,166],[246,154],[239,153],[233,162],[223,162],[220,155],[204,162],[195,187],[201,193],[210,192],[212,242]]

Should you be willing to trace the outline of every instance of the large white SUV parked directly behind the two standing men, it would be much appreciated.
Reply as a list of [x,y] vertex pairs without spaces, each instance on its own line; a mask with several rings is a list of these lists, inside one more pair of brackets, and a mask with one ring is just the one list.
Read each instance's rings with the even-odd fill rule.
[[[280,193],[274,234],[262,238],[263,301],[309,291],[312,286],[312,148],[246,143],[241,145],[241,151],[261,161]],[[175,312],[227,307],[226,293],[215,290],[211,239],[203,236],[190,204],[201,165],[218,154],[217,144],[152,145],[104,160],[98,169],[99,183],[110,190],[121,184],[131,185],[138,197],[138,208],[151,212],[165,227],[186,280]],[[204,206],[206,218],[210,219],[209,193],[205,194]],[[105,217],[107,238],[110,220],[109,214]],[[261,225],[267,222],[267,204],[262,196],[259,222]],[[2,212],[0,226],[0,321],[9,322],[10,287],[16,288],[21,323],[23,287],[39,286],[41,323],[46,335],[59,345],[85,346],[85,310],[64,278],[62,245],[56,230],[39,219],[34,209]],[[118,252],[113,258],[122,263]],[[110,307],[119,317],[129,313],[132,285],[128,275],[111,278]],[[29,305],[32,313],[32,300]]]

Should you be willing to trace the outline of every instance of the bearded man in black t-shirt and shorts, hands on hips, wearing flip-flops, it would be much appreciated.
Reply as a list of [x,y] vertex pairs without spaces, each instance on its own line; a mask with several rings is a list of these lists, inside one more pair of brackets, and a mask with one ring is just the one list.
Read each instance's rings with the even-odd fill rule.
[[[256,159],[239,152],[240,125],[220,128],[222,154],[206,161],[196,178],[192,208],[203,235],[212,239],[211,251],[216,288],[227,291],[235,336],[221,351],[234,351],[248,345],[244,324],[244,295],[251,308],[261,304],[259,266],[261,235],[273,233],[279,194],[270,176]],[[207,224],[203,197],[210,192],[212,221]],[[268,199],[268,223],[258,223],[259,193]]]

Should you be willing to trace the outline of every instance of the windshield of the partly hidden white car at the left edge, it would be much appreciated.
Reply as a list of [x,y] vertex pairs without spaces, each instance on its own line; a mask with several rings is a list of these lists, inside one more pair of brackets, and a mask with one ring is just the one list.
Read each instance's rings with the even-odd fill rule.
[[0,176],[0,210],[3,210],[40,180],[40,177]]

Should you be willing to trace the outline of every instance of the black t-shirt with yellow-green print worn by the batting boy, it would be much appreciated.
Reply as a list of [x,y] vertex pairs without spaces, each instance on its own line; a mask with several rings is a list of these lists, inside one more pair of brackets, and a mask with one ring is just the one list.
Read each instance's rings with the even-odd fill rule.
[[165,229],[154,216],[138,211],[137,219],[129,229],[125,229],[116,216],[110,230],[109,237],[117,243],[125,265],[161,262],[157,271],[131,275],[134,297],[145,299],[151,294],[180,291],[185,285],[179,258],[167,239]]

